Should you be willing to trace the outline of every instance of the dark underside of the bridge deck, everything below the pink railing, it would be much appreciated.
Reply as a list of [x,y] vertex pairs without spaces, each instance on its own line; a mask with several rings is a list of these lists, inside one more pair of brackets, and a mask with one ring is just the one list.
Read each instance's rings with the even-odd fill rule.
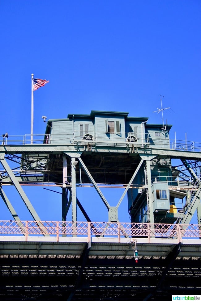
[[[45,238],[44,238],[45,239]],[[163,239],[164,240],[164,239]],[[104,240],[103,240],[104,241]],[[200,240],[191,244],[1,242],[1,300],[167,300],[199,295]]]

